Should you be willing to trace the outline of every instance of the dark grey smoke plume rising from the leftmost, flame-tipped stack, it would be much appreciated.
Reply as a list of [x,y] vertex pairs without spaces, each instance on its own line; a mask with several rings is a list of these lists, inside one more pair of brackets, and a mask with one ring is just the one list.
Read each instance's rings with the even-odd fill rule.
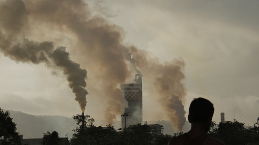
[[[0,5],[1,31],[0,50],[5,56],[16,62],[27,62],[47,64],[48,67],[57,66],[63,69],[67,76],[69,87],[75,93],[75,100],[78,101],[81,110],[84,112],[87,86],[84,79],[87,71],[81,69],[78,63],[69,58],[65,47],[57,47],[54,50],[52,42],[35,42],[24,39],[22,34],[23,25],[26,24],[27,11],[21,1],[5,1]],[[3,32],[5,34],[3,34]]]

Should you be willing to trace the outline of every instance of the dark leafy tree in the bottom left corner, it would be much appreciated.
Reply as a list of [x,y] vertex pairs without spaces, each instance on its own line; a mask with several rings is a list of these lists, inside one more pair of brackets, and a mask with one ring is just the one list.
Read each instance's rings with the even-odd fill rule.
[[9,111],[4,113],[2,108],[0,108],[0,144],[22,144]]

